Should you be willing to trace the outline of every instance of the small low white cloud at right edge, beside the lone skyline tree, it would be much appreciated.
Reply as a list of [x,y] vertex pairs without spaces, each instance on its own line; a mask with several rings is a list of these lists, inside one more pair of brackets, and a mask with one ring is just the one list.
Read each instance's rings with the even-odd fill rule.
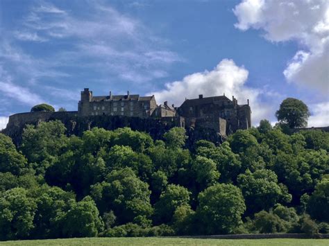
[[308,118],[308,127],[329,126],[329,102],[310,105],[312,112]]

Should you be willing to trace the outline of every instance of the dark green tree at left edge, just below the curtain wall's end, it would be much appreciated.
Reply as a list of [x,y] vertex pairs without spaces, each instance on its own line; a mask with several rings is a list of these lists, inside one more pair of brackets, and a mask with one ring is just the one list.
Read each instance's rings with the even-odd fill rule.
[[28,164],[25,157],[16,150],[10,137],[0,133],[0,172],[20,175],[27,168]]

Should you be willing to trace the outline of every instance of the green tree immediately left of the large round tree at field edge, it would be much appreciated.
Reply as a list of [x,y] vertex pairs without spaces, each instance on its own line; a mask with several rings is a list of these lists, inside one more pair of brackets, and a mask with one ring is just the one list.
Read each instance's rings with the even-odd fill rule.
[[174,211],[180,206],[189,205],[191,193],[180,185],[169,184],[155,203],[155,218],[158,224],[171,222]]

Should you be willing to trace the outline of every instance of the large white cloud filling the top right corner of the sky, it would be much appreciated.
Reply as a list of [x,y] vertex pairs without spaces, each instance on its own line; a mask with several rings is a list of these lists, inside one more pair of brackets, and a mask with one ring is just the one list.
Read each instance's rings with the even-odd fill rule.
[[329,1],[244,0],[233,9],[236,28],[264,30],[271,42],[297,41],[287,64],[288,82],[329,92]]

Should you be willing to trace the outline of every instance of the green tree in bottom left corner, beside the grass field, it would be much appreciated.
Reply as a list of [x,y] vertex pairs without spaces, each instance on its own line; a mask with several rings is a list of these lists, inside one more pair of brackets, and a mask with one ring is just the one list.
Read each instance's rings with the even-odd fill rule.
[[33,229],[35,201],[24,188],[12,188],[0,197],[0,239],[25,239]]

